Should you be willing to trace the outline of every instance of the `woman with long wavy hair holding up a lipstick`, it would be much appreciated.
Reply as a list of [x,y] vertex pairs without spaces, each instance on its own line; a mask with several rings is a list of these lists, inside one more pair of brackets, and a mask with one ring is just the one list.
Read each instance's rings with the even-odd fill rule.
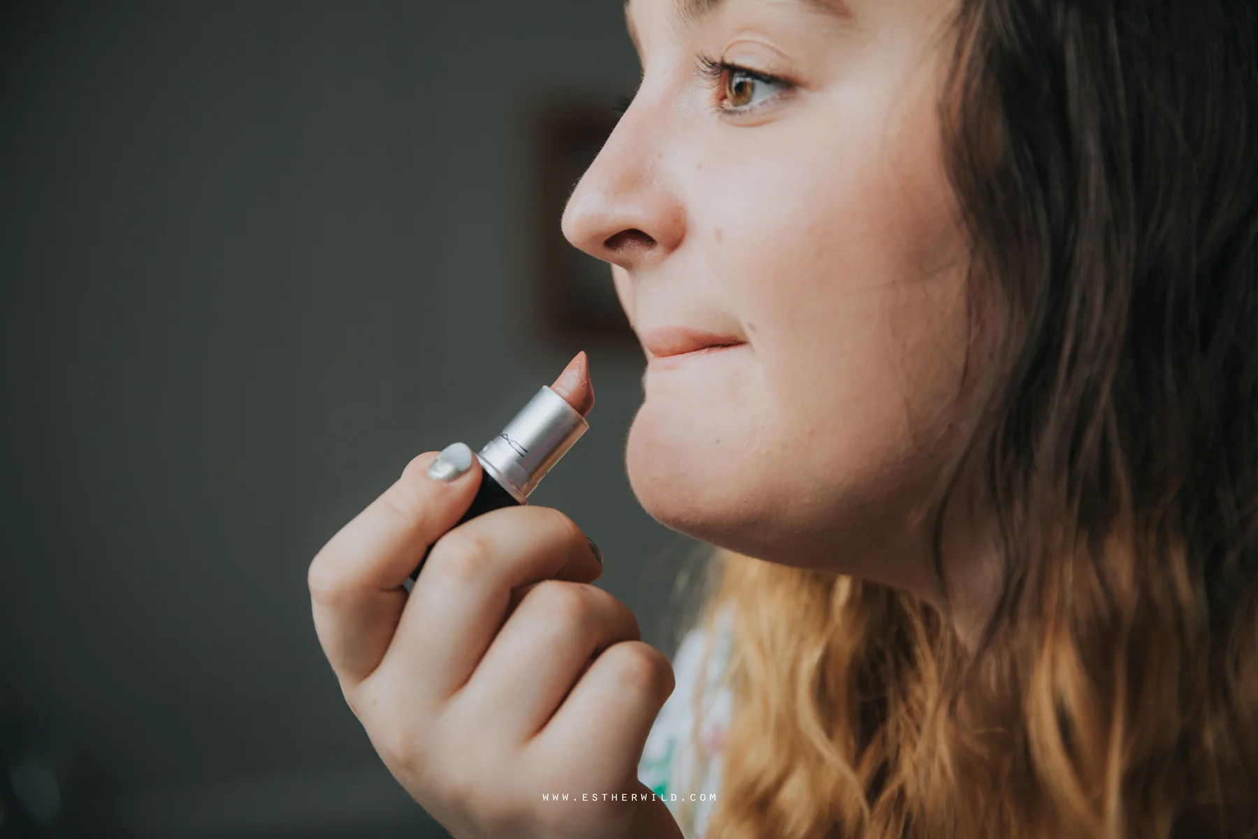
[[[634,492],[721,548],[687,835],[1255,835],[1258,14],[626,14],[642,86],[564,230],[649,358]],[[311,567],[386,764],[455,836],[681,835],[604,795],[691,693],[657,721],[667,663],[571,522],[459,526],[403,609],[479,469],[431,460]]]

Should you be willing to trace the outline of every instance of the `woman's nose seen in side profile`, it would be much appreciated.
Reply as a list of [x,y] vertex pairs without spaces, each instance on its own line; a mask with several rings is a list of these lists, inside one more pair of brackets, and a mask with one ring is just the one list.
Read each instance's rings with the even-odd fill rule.
[[567,240],[625,270],[659,263],[686,238],[686,213],[663,153],[662,111],[649,111],[639,91],[564,209]]

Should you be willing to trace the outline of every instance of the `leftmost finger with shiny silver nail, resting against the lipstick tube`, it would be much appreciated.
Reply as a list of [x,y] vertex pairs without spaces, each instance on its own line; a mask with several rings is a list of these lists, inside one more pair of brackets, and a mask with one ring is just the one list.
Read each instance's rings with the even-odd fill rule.
[[401,477],[342,527],[311,562],[314,630],[342,691],[380,664],[406,604],[403,581],[415,570],[424,550],[467,512],[481,484],[476,457],[470,457],[465,472],[450,481],[429,478],[428,467],[438,454],[465,462],[470,449],[457,443],[442,453],[425,452],[413,459]]

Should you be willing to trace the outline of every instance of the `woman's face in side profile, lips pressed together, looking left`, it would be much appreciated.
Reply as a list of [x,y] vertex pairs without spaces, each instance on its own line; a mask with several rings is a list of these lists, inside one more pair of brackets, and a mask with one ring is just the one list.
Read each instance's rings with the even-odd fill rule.
[[[944,0],[630,0],[643,65],[564,214],[644,345],[643,507],[749,556],[915,587],[959,410],[967,249]],[[702,338],[730,345],[686,355]]]

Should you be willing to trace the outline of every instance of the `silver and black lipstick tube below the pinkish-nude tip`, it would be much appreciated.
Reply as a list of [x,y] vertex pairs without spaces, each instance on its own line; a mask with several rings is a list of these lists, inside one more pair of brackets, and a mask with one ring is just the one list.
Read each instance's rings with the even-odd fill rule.
[[[484,475],[472,506],[454,527],[491,509],[527,504],[528,494],[589,428],[580,411],[542,385],[502,433],[477,453]],[[431,545],[424,548],[411,580],[419,576],[431,550]]]

